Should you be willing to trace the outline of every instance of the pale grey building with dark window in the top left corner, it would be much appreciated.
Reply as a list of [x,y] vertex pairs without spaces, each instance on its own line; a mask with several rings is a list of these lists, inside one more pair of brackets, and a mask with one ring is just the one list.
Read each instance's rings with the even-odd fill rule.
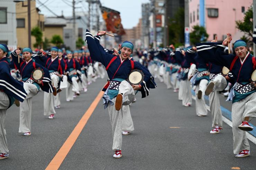
[[0,44],[7,44],[9,50],[16,49],[16,6],[13,1],[1,1]]

